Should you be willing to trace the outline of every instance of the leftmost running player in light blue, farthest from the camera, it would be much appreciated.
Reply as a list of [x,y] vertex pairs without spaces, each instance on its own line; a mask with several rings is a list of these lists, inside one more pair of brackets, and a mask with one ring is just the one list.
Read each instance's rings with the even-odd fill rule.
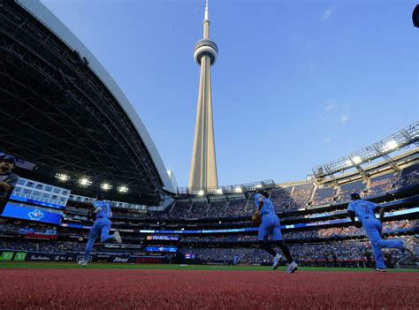
[[79,265],[83,267],[88,265],[88,255],[92,251],[92,247],[95,244],[95,239],[97,237],[101,236],[101,242],[117,241],[118,243],[122,243],[122,238],[118,231],[115,231],[111,236],[109,235],[110,217],[112,217],[110,203],[103,200],[104,197],[102,193],[99,193],[96,198],[97,200],[93,203],[95,223],[88,234],[88,244],[86,245],[84,258],[79,261]]

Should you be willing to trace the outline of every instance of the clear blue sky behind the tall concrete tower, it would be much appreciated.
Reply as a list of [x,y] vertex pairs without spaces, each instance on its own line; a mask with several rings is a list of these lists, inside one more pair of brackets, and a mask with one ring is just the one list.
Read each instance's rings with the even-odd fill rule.
[[[204,1],[42,0],[187,185]],[[218,182],[306,177],[419,119],[415,1],[210,0]]]

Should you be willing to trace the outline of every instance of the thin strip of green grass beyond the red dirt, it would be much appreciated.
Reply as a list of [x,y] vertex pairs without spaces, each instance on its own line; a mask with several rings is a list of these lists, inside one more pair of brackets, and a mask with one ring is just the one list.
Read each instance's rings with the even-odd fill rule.
[[[45,268],[45,269],[129,269],[129,270],[228,270],[228,271],[270,271],[270,266],[219,266],[219,265],[169,265],[169,264],[113,264],[93,262],[87,267],[80,267],[75,262],[0,262],[0,268]],[[278,270],[285,270],[280,267]],[[371,268],[328,268],[328,267],[300,267],[298,271],[347,271],[347,272],[367,272]],[[419,269],[388,269],[389,272],[419,272]]]

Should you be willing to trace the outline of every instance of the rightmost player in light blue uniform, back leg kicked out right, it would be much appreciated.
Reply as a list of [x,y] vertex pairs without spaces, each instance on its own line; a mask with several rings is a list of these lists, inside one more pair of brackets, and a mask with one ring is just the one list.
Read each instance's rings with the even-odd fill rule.
[[[369,238],[374,257],[376,259],[376,271],[385,272],[385,262],[383,259],[382,248],[396,248],[402,251],[408,251],[415,256],[415,249],[409,246],[406,240],[381,238],[381,231],[383,229],[383,219],[385,209],[380,208],[377,203],[362,200],[358,193],[351,194],[352,202],[347,206],[347,213],[351,218],[352,223],[358,228],[363,228]],[[379,210],[380,219],[377,220],[375,212]],[[360,222],[355,222],[355,215]]]

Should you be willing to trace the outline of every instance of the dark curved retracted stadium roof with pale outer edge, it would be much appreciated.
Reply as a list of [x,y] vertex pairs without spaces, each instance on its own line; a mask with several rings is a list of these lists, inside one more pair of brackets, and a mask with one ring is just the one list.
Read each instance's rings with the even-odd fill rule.
[[[111,42],[110,42],[111,44]],[[0,4],[0,149],[75,193],[151,203],[175,192],[132,104],[88,49],[38,0]],[[91,186],[80,185],[87,178]],[[63,178],[64,179],[64,178]]]

